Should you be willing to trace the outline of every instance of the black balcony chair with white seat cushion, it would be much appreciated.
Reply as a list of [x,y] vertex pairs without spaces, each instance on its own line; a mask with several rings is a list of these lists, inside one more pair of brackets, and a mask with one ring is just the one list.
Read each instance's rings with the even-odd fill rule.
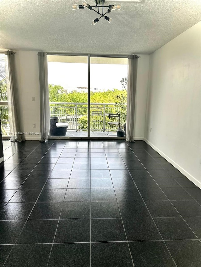
[[68,123],[58,122],[58,117],[50,117],[50,135],[65,136],[68,129]]

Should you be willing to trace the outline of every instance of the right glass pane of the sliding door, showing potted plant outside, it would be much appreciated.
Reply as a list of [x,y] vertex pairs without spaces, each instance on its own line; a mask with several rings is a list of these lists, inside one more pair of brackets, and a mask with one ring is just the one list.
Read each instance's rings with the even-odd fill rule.
[[127,58],[90,58],[90,136],[124,137],[127,76]]

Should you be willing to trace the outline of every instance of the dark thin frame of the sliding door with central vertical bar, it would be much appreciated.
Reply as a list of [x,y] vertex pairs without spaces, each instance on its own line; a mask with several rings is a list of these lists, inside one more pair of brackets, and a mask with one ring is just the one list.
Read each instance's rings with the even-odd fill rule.
[[[49,139],[103,139],[103,137],[94,137],[90,136],[90,58],[127,58],[129,59],[129,55],[115,55],[115,54],[74,54],[74,53],[47,53],[49,56],[84,56],[88,58],[88,114],[87,114],[87,136],[49,136]],[[107,136],[104,137],[104,140],[107,139],[125,139],[125,137],[117,137],[117,136]]]

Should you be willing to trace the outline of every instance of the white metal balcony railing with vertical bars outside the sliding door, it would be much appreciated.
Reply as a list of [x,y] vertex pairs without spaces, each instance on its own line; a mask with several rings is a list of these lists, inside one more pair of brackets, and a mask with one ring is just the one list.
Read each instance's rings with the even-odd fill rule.
[[[109,113],[119,112],[114,105],[114,103],[90,103],[90,131],[116,130],[117,126],[108,126],[107,116]],[[101,111],[101,114],[93,116],[92,111]],[[58,117],[59,122],[67,122],[68,130],[87,131],[87,113],[87,103],[50,102],[51,117]],[[123,123],[120,121],[121,125]]]

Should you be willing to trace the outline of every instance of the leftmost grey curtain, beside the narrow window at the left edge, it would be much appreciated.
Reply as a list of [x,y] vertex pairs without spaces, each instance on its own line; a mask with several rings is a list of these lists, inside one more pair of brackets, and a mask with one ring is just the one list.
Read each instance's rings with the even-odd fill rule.
[[8,114],[10,124],[10,141],[24,141],[24,135],[21,134],[18,88],[15,73],[14,52],[5,51],[6,63],[6,84],[8,98]]

